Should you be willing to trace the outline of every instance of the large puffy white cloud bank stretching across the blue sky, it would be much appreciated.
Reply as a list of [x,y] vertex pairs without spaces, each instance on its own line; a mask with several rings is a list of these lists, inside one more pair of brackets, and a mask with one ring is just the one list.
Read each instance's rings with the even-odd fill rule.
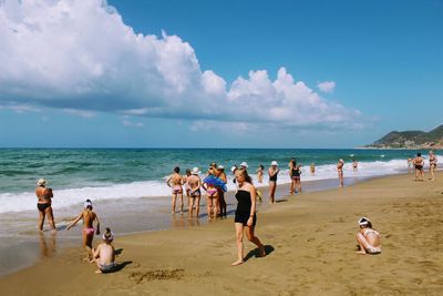
[[[0,1],[0,105],[53,108],[82,116],[174,118],[212,124],[337,126],[361,113],[328,101],[282,67],[228,85],[202,70],[177,35],[136,33],[102,0]],[[333,92],[333,81],[317,85]],[[20,109],[20,106],[22,106]],[[123,124],[142,126],[124,118]],[[222,124],[222,125],[223,125]]]

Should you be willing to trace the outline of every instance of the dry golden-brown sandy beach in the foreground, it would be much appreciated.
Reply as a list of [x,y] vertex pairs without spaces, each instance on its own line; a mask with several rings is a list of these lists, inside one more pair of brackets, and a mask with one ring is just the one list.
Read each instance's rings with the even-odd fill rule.
[[[94,274],[95,266],[81,262],[83,249],[64,248],[0,278],[1,295],[441,295],[442,178],[387,176],[288,196],[258,214],[267,256],[257,257],[245,238],[241,266],[230,266],[229,217],[119,236],[122,268],[113,274]],[[362,215],[381,233],[381,255],[354,253]]]

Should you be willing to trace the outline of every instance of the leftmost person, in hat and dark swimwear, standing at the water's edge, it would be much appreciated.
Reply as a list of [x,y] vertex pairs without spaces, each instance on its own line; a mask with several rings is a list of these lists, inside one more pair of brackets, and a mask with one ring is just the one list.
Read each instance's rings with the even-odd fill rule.
[[47,181],[44,178],[40,178],[37,182],[35,196],[38,198],[37,208],[39,210],[39,223],[38,228],[39,232],[43,232],[44,218],[48,216],[48,223],[51,226],[53,232],[56,232],[54,214],[52,212],[52,197],[54,197],[52,193],[52,188],[47,188]]

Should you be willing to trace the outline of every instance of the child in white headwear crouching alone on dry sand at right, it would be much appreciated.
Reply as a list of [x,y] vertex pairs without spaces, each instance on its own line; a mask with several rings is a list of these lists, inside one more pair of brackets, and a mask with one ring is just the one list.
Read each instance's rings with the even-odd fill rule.
[[380,254],[381,243],[380,234],[372,228],[372,223],[367,217],[359,220],[360,231],[357,233],[357,242],[359,243],[360,251],[357,254]]

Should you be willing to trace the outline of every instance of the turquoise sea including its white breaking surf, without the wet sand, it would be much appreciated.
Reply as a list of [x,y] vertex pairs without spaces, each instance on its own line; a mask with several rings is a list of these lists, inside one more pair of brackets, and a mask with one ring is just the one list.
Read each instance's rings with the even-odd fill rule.
[[[194,166],[205,172],[209,163],[217,162],[229,172],[231,165],[247,162],[249,173],[255,176],[258,165],[267,169],[271,161],[277,161],[282,169],[279,182],[287,183],[289,177],[285,170],[292,157],[303,165],[302,180],[307,181],[337,177],[339,159],[346,161],[347,174],[351,171],[352,157],[359,161],[360,176],[401,173],[406,170],[406,159],[415,153],[315,149],[1,149],[0,202],[3,206],[0,213],[34,210],[33,190],[40,177],[47,178],[54,190],[58,201],[54,207],[63,207],[80,204],[85,198],[168,195],[164,178],[176,165],[183,173]],[[309,174],[311,162],[317,166],[316,176]]]

